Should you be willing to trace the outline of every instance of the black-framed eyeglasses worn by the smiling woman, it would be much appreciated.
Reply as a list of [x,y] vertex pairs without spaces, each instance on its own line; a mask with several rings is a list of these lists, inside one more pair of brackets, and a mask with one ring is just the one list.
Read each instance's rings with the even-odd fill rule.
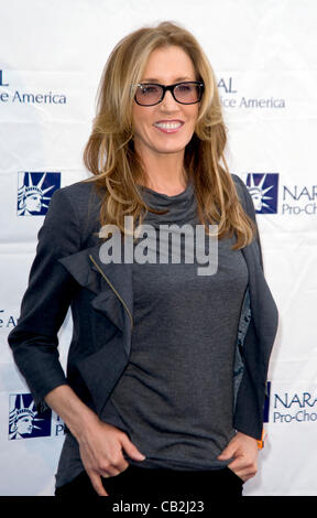
[[158,83],[138,83],[134,100],[140,106],[154,106],[162,102],[167,90],[171,91],[176,102],[181,105],[195,105],[203,97],[204,83],[199,80],[186,80],[174,85],[160,85]]

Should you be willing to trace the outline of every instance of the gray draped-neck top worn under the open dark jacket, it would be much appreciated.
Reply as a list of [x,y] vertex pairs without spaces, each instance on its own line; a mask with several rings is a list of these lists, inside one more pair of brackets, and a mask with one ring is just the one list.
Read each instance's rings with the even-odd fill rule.
[[[158,225],[199,224],[194,185],[174,196],[142,187],[145,201],[165,215],[147,213],[147,251],[158,250]],[[177,233],[177,227],[174,228]],[[206,245],[196,239],[195,248]],[[146,455],[144,467],[215,470],[229,462],[217,455],[234,435],[233,357],[248,268],[234,238],[218,241],[218,270],[198,276],[194,262],[139,263],[133,271],[133,331],[129,364],[103,408],[102,420],[124,430]],[[165,247],[166,249],[166,247]],[[162,256],[161,256],[162,257]],[[173,257],[175,257],[173,255]],[[56,485],[84,466],[76,440],[68,434],[67,465],[59,463]]]

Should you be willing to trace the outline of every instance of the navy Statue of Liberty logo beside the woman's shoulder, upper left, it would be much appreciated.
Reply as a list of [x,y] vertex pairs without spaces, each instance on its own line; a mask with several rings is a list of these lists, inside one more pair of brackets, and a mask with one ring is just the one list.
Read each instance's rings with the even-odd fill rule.
[[50,199],[61,187],[61,172],[20,172],[18,187],[18,216],[44,216]]

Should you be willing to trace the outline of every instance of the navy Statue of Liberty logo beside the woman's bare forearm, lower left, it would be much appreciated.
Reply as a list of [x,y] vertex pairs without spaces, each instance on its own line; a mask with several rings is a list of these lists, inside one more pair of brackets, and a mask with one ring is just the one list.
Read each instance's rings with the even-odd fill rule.
[[9,440],[64,435],[61,418],[50,408],[37,412],[31,393],[10,395],[9,406]]

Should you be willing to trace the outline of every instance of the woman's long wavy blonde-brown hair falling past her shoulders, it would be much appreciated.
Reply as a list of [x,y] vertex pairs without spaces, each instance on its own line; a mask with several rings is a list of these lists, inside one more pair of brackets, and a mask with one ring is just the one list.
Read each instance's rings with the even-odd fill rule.
[[[152,51],[168,45],[182,47],[192,58],[197,80],[205,88],[184,166],[195,185],[197,214],[206,234],[218,225],[218,239],[236,235],[237,250],[249,245],[256,227],[239,202],[225,158],[227,128],[214,71],[190,32],[172,23],[144,26],[123,37],[111,52],[97,91],[92,131],[84,150],[85,166],[102,193],[100,225],[116,225],[124,234],[124,216],[141,225],[147,211],[160,213],[143,201],[136,184],[146,185],[146,171],[133,144],[132,85],[141,82]],[[222,165],[220,162],[222,161]],[[214,234],[215,235],[215,234]]]

